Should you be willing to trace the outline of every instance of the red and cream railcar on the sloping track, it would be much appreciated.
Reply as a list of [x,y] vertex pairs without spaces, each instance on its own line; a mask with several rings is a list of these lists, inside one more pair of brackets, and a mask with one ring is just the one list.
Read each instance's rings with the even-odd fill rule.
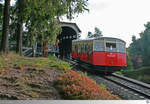
[[119,71],[127,66],[125,44],[123,40],[111,37],[73,40],[72,58],[100,71]]

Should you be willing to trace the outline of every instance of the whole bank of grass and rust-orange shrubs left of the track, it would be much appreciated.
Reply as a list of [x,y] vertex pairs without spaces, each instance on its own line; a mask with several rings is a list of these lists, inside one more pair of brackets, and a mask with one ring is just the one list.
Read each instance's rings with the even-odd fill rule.
[[[98,85],[89,79],[86,72],[68,71],[70,69],[69,63],[54,56],[29,58],[15,53],[2,55],[0,56],[0,83],[3,83],[4,89],[1,86],[0,92],[8,91],[9,96],[3,92],[0,99],[1,96],[2,99],[39,99],[41,96],[50,98],[53,94],[57,94],[52,89],[55,80],[57,80],[58,87],[60,86],[57,88],[67,94],[65,96],[68,99],[119,99],[109,93],[105,85]],[[4,72],[4,75],[1,72]],[[62,72],[64,73],[56,79],[56,76]],[[10,92],[6,90],[8,88]]]

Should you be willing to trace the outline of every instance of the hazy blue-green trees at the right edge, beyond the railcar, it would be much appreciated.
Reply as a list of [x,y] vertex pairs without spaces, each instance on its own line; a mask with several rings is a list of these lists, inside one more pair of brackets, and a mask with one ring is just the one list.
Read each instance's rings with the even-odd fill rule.
[[[133,61],[134,68],[142,66],[150,66],[150,22],[144,25],[145,30],[140,33],[140,38],[132,37],[132,43],[129,47],[129,53]],[[142,60],[142,62],[140,61]]]

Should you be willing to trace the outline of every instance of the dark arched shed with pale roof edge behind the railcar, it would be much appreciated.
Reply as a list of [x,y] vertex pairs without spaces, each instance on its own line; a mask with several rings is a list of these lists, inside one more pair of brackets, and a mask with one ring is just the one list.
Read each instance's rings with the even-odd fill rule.
[[81,30],[75,23],[61,22],[61,34],[59,39],[59,54],[61,57],[70,57],[72,53],[72,40],[80,37]]

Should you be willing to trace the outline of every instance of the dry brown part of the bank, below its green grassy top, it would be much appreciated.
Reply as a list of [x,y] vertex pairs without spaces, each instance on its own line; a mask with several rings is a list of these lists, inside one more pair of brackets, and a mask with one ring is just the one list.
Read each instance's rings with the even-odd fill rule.
[[22,69],[3,69],[0,68],[0,100],[60,99],[53,83],[61,71],[28,65]]

